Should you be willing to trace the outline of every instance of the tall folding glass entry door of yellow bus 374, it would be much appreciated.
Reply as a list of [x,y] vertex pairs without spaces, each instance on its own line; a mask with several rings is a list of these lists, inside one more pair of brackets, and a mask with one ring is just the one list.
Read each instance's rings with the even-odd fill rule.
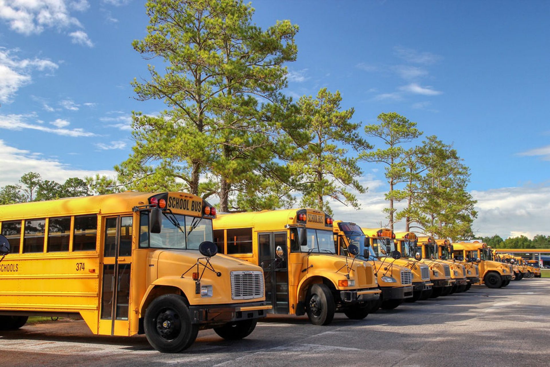
[[128,336],[133,217],[108,217],[103,228],[99,331],[102,335]]

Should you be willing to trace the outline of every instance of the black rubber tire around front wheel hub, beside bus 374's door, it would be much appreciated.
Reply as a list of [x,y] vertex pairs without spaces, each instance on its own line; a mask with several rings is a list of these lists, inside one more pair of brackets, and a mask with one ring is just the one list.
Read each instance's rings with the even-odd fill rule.
[[[164,338],[157,328],[157,316],[167,310],[177,315],[181,323],[179,333],[174,339]],[[163,353],[178,353],[189,348],[199,333],[199,326],[191,324],[185,299],[178,294],[164,294],[154,299],[145,311],[144,328],[151,346]]]

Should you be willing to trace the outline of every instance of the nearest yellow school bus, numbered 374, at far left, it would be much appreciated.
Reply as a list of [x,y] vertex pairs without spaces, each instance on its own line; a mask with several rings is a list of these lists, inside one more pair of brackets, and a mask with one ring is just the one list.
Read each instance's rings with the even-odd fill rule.
[[260,267],[216,255],[215,208],[179,192],[87,196],[0,206],[0,324],[80,315],[94,334],[145,333],[161,352],[202,328],[248,336],[265,316]]

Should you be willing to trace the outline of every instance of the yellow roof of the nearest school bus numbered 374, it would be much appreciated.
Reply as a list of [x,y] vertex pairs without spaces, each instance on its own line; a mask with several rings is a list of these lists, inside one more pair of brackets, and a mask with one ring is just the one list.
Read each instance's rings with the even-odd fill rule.
[[142,193],[139,191],[125,191],[124,193],[117,194],[79,196],[76,198],[0,205],[0,220],[131,212],[134,206],[149,204],[149,199],[159,194],[177,195],[193,201],[203,201],[199,196],[187,193]]

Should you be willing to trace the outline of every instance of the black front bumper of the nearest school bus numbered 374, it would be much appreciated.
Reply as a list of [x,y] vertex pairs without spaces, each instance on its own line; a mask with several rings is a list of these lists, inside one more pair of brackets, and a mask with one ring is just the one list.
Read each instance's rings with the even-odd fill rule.
[[218,324],[223,322],[266,317],[271,305],[265,301],[222,305],[189,306],[191,324]]

